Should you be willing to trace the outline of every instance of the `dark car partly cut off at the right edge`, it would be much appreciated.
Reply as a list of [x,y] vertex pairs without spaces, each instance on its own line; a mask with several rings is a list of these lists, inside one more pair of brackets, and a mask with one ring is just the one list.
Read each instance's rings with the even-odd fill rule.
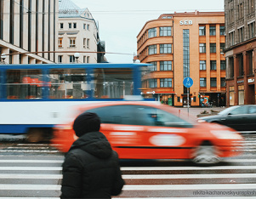
[[198,122],[215,122],[223,124],[237,131],[256,132],[256,105],[235,105],[216,116],[200,117]]

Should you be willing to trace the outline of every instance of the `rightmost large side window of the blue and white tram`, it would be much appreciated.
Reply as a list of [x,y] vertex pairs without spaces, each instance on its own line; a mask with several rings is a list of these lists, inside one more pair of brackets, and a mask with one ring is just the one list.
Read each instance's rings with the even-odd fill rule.
[[134,94],[133,73],[128,68],[95,69],[93,97],[97,99],[122,99]]

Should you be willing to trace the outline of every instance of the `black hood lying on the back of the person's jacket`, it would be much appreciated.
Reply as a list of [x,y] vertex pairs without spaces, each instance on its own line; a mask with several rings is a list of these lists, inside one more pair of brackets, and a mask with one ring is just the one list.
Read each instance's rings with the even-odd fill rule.
[[109,141],[105,138],[105,135],[100,132],[83,134],[71,145],[70,151],[73,149],[81,149],[101,159],[106,159],[112,154]]

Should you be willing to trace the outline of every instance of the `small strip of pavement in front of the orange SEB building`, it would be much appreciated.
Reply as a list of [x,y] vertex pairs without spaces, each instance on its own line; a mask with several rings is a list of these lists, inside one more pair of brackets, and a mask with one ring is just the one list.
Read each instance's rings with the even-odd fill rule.
[[[225,106],[222,107],[190,107],[189,110],[187,107],[176,107],[177,109],[179,109],[181,112],[183,113],[188,113],[190,114],[190,116],[196,117],[197,115],[200,115],[202,111],[208,111],[208,113],[212,113],[211,110],[213,111],[223,111],[226,109]],[[207,116],[207,115],[206,115]]]

